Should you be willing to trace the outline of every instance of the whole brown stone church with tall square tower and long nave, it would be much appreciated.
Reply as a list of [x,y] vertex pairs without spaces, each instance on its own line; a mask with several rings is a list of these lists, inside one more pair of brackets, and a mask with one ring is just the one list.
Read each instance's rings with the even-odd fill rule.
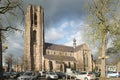
[[[48,35],[49,36],[49,35]],[[34,71],[62,71],[71,68],[92,71],[92,54],[86,44],[73,47],[47,43],[44,40],[44,10],[29,5],[26,12],[24,69]]]

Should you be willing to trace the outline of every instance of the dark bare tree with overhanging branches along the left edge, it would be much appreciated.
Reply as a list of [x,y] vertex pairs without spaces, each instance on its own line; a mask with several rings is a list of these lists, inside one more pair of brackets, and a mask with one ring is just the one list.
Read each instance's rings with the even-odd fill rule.
[[[0,80],[3,80],[3,68],[2,68],[2,38],[4,37],[3,32],[9,32],[11,30],[19,30],[16,26],[6,24],[8,22],[5,17],[9,15],[15,15],[16,8],[22,9],[22,0],[0,0]],[[4,18],[3,18],[4,16]],[[5,21],[5,22],[3,22]]]

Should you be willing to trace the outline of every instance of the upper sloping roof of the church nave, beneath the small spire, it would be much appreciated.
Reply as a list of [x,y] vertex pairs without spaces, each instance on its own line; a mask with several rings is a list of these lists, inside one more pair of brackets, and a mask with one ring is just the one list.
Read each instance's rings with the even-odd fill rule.
[[65,46],[65,45],[58,45],[53,43],[45,43],[45,49],[56,50],[56,51],[63,51],[63,52],[74,52],[79,51],[84,48],[86,44],[78,45],[76,48]]

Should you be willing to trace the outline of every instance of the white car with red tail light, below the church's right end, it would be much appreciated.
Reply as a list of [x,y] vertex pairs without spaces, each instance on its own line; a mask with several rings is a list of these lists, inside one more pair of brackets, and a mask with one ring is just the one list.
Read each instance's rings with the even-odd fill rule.
[[76,75],[76,79],[80,80],[95,80],[96,76],[93,72],[80,72]]

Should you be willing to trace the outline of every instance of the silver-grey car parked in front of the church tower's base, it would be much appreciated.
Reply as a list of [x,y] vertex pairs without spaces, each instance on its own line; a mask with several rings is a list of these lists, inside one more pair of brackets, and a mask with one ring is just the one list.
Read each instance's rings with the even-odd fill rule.
[[38,73],[33,71],[27,71],[20,77],[18,77],[17,80],[37,80]]

